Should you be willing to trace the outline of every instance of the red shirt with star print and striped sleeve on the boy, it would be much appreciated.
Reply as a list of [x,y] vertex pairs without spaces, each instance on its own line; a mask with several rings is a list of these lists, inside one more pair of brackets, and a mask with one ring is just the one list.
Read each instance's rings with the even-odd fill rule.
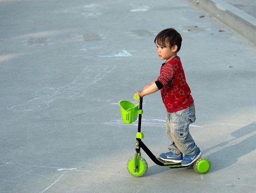
[[162,64],[157,81],[163,85],[160,91],[168,112],[183,110],[194,102],[179,56]]

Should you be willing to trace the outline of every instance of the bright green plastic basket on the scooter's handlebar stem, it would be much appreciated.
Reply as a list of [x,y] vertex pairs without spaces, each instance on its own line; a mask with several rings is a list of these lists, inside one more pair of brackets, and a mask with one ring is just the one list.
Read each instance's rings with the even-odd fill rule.
[[138,114],[143,113],[142,110],[139,110],[139,104],[134,105],[128,100],[120,100],[118,105],[120,106],[122,120],[125,124],[131,124],[136,121]]

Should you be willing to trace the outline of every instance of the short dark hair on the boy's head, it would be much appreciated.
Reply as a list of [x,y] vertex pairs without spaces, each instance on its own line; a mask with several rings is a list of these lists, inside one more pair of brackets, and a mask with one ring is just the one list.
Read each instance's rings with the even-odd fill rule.
[[177,52],[179,52],[181,49],[182,37],[181,34],[174,28],[167,28],[160,31],[156,35],[154,42],[163,47],[166,47],[166,44],[169,43],[170,48],[174,45],[177,45]]

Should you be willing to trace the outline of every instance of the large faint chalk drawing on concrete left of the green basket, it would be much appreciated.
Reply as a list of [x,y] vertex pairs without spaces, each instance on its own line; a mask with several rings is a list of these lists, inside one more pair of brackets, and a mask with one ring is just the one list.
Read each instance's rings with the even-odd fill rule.
[[49,107],[49,103],[57,99],[76,100],[86,94],[86,88],[100,81],[106,74],[114,70],[114,67],[86,67],[71,83],[59,88],[45,87],[34,93],[37,97],[25,103],[14,105],[8,110],[14,112],[29,112],[43,110]]

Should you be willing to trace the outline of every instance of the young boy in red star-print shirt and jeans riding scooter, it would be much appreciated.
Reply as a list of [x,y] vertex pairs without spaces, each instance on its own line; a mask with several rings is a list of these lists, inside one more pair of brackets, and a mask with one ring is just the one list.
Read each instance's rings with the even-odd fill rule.
[[161,66],[157,80],[134,94],[143,97],[161,91],[167,110],[166,133],[171,140],[168,147],[171,152],[162,153],[159,158],[186,166],[194,163],[201,151],[189,133],[189,124],[195,122],[196,114],[191,90],[186,83],[180,57],[177,56],[181,42],[181,35],[173,28],[164,29],[156,35],[157,55],[166,61]]

